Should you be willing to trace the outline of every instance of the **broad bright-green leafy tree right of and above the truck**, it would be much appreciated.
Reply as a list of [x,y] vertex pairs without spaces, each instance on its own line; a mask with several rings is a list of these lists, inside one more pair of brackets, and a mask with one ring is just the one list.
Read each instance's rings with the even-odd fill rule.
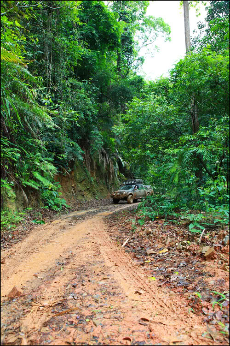
[[[217,180],[219,162],[221,174],[228,181],[224,160],[229,143],[228,63],[227,54],[191,52],[175,65],[170,79],[147,84],[142,98],[129,104],[122,117],[123,125],[114,126],[114,131],[123,139],[121,149],[125,160],[131,162],[134,175],[152,175],[154,180],[153,174],[161,172],[166,182],[171,176],[178,179],[178,174],[182,174],[180,186],[186,184],[190,175],[196,191],[197,183],[203,186],[208,179]],[[189,121],[191,98],[200,120],[196,133]],[[137,170],[136,162],[141,160],[143,164]],[[173,167],[177,170],[170,171]],[[200,167],[203,180],[196,181]]]

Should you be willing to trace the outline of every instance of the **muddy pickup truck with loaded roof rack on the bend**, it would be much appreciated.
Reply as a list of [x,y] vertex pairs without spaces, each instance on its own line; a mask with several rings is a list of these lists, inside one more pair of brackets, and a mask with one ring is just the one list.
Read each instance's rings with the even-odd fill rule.
[[119,190],[111,193],[114,204],[127,201],[129,204],[137,202],[139,198],[146,198],[152,194],[151,186],[143,185],[142,180],[127,180]]

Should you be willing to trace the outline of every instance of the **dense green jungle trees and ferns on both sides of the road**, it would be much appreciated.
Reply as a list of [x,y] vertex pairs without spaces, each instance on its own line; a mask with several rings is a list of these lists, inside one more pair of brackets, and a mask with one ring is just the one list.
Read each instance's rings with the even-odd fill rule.
[[68,210],[55,177],[76,163],[94,184],[99,170],[108,190],[131,177],[151,184],[143,218],[183,219],[204,235],[228,225],[229,2],[210,1],[189,54],[155,81],[138,72],[141,48],[153,54],[171,30],[148,4],[1,2],[4,232],[31,195]]

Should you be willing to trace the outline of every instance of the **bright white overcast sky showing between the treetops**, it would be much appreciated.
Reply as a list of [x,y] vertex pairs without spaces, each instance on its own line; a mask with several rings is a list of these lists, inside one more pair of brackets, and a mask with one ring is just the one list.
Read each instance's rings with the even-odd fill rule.
[[[155,52],[154,57],[146,56],[142,69],[139,71],[145,79],[154,80],[161,75],[168,76],[168,71],[185,55],[183,8],[180,9],[179,5],[180,1],[149,1],[147,15],[161,17],[170,25],[171,42],[164,42],[162,38],[158,38],[155,42],[160,48],[159,52]],[[197,28],[197,22],[204,21],[206,18],[205,6],[201,1],[199,8],[201,13],[199,17],[196,17],[194,8],[189,10],[191,36],[193,30]],[[144,55],[144,48],[140,53]]]

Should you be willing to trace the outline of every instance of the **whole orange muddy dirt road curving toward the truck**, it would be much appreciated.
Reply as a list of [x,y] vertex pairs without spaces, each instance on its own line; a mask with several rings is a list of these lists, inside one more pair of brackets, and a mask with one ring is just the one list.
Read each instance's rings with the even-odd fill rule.
[[[2,251],[2,345],[218,344],[109,236],[103,218],[136,205],[71,213]],[[22,295],[9,299],[13,286]]]

